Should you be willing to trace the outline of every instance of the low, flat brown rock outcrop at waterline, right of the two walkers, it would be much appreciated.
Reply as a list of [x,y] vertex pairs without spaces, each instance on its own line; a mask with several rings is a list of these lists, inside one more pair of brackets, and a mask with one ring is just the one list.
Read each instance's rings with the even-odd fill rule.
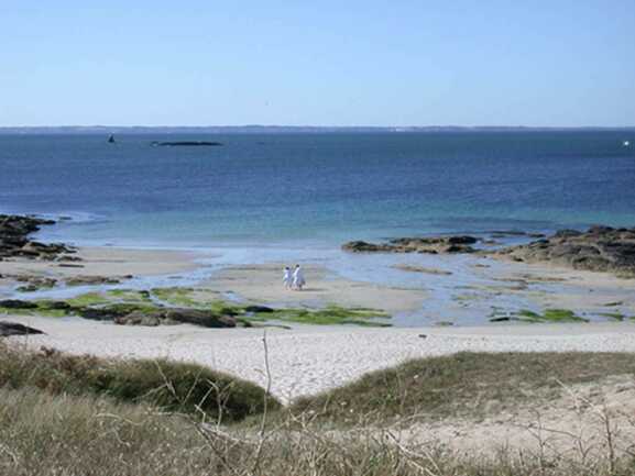
[[475,250],[471,245],[478,241],[468,235],[403,237],[380,244],[353,241],[343,244],[342,250],[352,253],[473,253]]

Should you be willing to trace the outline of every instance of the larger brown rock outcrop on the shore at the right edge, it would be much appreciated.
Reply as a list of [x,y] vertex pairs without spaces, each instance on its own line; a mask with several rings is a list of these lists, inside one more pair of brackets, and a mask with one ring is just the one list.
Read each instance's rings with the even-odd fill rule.
[[551,263],[573,269],[635,276],[635,228],[560,230],[552,236],[493,252],[524,263]]

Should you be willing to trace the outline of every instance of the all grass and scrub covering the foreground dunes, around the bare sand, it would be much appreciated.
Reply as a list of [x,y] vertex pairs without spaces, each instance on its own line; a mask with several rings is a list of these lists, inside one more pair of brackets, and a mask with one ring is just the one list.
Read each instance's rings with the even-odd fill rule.
[[[440,419],[506,406],[513,411],[522,402],[539,408],[543,397],[560,389],[557,379],[589,383],[634,372],[635,356],[628,354],[458,354],[369,374],[303,399],[292,411],[270,399],[265,416],[258,403],[264,401],[262,389],[206,368],[33,354],[0,343],[0,474],[626,476],[635,469],[632,453],[613,454],[598,444],[602,434],[582,447],[573,434],[569,451],[505,446],[495,454],[459,455],[428,433],[425,444],[397,443],[399,429],[390,423],[421,411]],[[204,391],[207,378],[231,387],[236,399],[217,398],[222,411],[214,406],[190,411],[184,402],[212,397]],[[190,388],[200,391],[196,398]],[[253,410],[247,411],[251,417],[234,424],[245,409]],[[617,429],[610,433],[617,434]],[[533,435],[528,430],[527,440]],[[631,447],[627,440],[620,443]]]

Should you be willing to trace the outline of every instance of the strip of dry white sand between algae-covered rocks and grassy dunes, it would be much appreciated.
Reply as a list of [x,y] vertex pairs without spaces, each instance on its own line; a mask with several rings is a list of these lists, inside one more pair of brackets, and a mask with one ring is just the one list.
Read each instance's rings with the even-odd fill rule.
[[[189,325],[136,328],[76,318],[7,317],[46,332],[11,337],[75,354],[167,357],[196,362],[266,384],[263,330]],[[425,336],[424,336],[425,335]],[[346,384],[409,358],[474,352],[635,352],[628,323],[506,325],[462,329],[303,326],[266,331],[272,391],[285,401]]]

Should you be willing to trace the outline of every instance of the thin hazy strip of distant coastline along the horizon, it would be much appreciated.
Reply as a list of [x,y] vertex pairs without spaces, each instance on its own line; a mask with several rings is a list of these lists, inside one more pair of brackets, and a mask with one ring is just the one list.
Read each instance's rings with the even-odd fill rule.
[[330,125],[201,125],[201,126],[145,126],[145,125],[43,125],[0,126],[0,135],[8,134],[289,134],[289,133],[439,133],[439,132],[576,132],[576,131],[626,131],[629,126],[524,126],[524,125],[413,125],[413,126],[330,126]]

